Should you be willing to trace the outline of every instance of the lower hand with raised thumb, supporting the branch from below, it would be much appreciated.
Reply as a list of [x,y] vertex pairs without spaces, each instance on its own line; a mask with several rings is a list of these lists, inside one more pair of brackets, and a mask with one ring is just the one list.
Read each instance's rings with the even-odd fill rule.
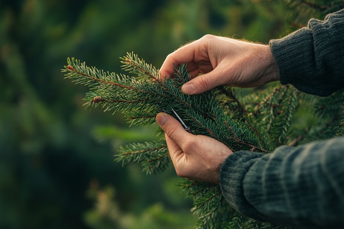
[[211,137],[188,133],[171,115],[159,113],[156,120],[165,132],[177,175],[189,180],[218,183],[221,165],[233,152]]

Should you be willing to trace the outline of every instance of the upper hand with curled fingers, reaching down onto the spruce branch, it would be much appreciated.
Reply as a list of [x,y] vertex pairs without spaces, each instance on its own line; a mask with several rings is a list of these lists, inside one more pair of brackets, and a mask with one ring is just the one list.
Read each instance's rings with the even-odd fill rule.
[[[279,80],[276,61],[268,45],[205,35],[169,54],[160,77],[170,78],[175,65],[187,63],[192,75],[182,86],[184,94],[200,94],[219,85],[256,87]],[[203,73],[197,77],[199,73]]]

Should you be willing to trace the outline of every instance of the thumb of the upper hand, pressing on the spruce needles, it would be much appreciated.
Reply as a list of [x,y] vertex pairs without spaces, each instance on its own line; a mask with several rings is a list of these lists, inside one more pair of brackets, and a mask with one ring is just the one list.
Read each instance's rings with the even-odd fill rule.
[[189,95],[200,94],[225,83],[225,77],[222,76],[221,71],[215,68],[213,71],[185,83],[182,86],[182,92]]

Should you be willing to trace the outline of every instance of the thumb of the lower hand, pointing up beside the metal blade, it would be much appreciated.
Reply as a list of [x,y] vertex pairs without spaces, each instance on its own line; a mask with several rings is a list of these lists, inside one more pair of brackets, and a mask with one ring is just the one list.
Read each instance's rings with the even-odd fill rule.
[[159,113],[157,114],[156,120],[165,134],[181,148],[187,138],[194,137],[194,135],[188,133],[182,125],[169,114]]

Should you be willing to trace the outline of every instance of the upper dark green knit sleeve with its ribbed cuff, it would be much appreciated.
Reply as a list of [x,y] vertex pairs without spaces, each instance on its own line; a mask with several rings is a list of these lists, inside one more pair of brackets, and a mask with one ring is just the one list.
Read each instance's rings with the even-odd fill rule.
[[344,9],[270,41],[282,84],[327,96],[344,87]]

